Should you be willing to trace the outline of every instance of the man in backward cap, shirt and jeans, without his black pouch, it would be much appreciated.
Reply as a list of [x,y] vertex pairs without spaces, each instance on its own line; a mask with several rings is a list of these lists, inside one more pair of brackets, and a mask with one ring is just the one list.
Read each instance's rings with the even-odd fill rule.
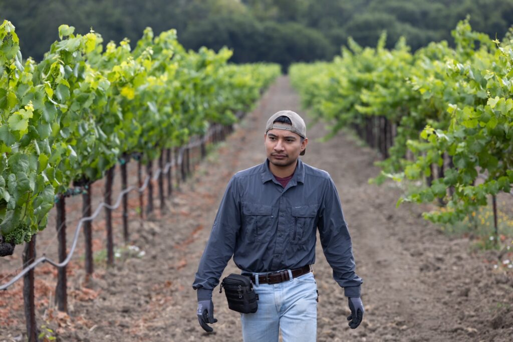
[[278,341],[280,330],[285,342],[315,341],[318,292],[310,265],[319,229],[333,277],[348,297],[349,326],[355,329],[364,312],[362,279],[354,273],[337,189],[326,171],[299,159],[308,138],[297,113],[272,115],[264,139],[267,160],[231,178],[200,260],[193,283],[200,325],[213,330],[207,325],[217,321],[212,290],[233,255],[259,296],[257,312],[241,314],[244,341]]

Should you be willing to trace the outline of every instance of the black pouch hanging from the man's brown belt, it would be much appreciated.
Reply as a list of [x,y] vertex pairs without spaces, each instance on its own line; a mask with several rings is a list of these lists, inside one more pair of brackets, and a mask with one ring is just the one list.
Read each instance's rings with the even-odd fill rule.
[[241,313],[255,313],[258,309],[258,294],[248,276],[231,273],[221,283],[219,293],[225,289],[228,308]]

